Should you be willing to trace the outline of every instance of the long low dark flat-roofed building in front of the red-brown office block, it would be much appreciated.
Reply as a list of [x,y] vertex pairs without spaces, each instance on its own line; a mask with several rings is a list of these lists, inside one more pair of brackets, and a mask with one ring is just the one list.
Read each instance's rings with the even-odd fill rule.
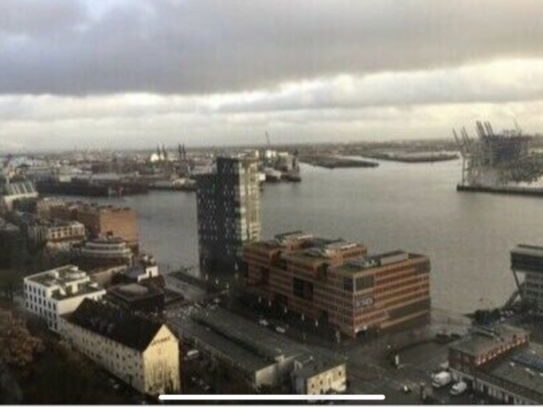
[[[345,361],[335,354],[324,349],[309,349],[223,308],[174,318],[172,326],[184,344],[241,373],[247,383],[257,389],[290,379],[295,364],[298,362],[297,366],[301,368],[309,359],[319,366],[332,370],[339,367],[345,372],[344,367],[341,368]],[[332,386],[335,384],[334,381]],[[328,384],[323,384],[322,388],[325,386]]]

